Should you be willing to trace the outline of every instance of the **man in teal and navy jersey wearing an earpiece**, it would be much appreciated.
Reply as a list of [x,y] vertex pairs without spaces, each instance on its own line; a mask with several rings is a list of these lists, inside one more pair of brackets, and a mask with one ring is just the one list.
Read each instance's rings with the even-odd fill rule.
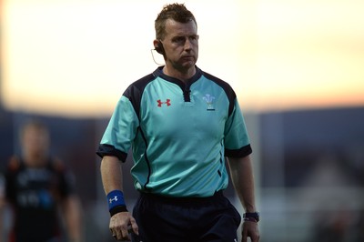
[[[238,241],[241,217],[223,195],[228,164],[246,212],[242,241],[257,242],[252,149],[237,96],[196,66],[197,22],[185,5],[165,5],[155,27],[166,65],[127,87],[96,152],[111,233],[138,242]],[[133,215],[120,163],[130,148],[140,192]]]

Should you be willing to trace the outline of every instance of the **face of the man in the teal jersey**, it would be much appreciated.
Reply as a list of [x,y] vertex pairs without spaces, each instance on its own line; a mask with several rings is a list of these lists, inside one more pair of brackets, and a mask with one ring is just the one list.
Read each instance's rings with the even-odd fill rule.
[[198,57],[197,25],[194,21],[186,24],[168,19],[166,36],[162,40],[166,52],[166,63],[179,71],[195,66]]

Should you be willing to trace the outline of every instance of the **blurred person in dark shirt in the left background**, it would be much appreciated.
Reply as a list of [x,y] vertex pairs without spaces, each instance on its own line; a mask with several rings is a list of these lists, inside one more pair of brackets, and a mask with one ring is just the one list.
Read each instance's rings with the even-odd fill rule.
[[2,177],[0,235],[5,234],[8,205],[14,223],[5,241],[83,241],[75,177],[61,160],[50,156],[45,124],[35,120],[25,123],[20,129],[20,145],[21,155],[10,157]]

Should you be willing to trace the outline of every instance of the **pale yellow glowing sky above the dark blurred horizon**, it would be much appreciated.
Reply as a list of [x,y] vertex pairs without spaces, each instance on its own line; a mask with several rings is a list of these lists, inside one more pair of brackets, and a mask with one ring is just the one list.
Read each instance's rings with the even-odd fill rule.
[[[3,0],[1,101],[109,115],[157,67],[154,20],[167,2]],[[364,2],[184,2],[197,17],[197,66],[233,86],[244,109],[364,104]]]

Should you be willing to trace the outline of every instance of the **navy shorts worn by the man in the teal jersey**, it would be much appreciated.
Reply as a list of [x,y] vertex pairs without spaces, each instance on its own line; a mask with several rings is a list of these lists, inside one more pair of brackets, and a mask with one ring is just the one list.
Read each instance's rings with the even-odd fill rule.
[[133,242],[236,242],[241,222],[222,192],[202,198],[141,194],[133,217],[139,227]]

